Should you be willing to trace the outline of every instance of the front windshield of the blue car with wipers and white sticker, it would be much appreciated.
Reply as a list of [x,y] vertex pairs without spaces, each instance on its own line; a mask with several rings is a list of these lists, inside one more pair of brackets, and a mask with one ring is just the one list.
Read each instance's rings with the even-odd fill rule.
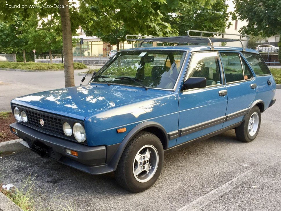
[[176,50],[121,51],[90,83],[106,80],[110,84],[173,89],[185,54]]

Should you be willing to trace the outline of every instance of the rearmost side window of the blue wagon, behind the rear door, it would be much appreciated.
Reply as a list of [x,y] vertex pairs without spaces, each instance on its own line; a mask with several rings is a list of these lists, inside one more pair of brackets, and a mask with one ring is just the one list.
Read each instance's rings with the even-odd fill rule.
[[262,58],[258,54],[252,54],[247,52],[242,52],[245,59],[250,64],[251,68],[258,75],[269,75],[270,71],[267,66],[262,62]]

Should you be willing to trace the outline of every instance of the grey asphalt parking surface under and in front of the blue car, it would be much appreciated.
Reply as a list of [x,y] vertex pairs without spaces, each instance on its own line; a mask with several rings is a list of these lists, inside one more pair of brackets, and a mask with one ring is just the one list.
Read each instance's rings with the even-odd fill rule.
[[145,192],[123,190],[112,173],[89,175],[29,150],[2,155],[0,180],[19,185],[36,176],[44,203],[75,200],[76,210],[281,210],[280,89],[275,97],[254,141],[239,142],[230,130],[167,154]]

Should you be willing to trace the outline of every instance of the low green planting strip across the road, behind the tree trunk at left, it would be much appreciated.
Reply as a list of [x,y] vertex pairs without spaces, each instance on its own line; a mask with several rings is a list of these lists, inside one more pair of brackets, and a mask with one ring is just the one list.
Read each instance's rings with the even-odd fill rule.
[[[85,64],[74,62],[74,69],[86,69],[87,66]],[[9,62],[2,61],[0,62],[0,68],[11,68],[11,69],[20,69],[20,70],[63,70],[64,64],[62,63],[35,63],[35,62]]]

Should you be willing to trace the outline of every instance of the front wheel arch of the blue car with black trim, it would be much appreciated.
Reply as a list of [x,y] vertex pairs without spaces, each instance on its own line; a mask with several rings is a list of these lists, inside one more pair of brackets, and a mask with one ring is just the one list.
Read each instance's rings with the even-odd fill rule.
[[138,125],[136,125],[130,132],[124,137],[124,139],[121,142],[121,145],[118,147],[118,150],[110,160],[109,165],[114,169],[114,171],[117,168],[117,165],[119,163],[119,160],[123,154],[123,151],[125,150],[127,144],[129,141],[140,131],[147,131],[155,134],[161,141],[163,145],[163,149],[167,149],[168,147],[168,135],[165,130],[165,128],[160,125],[157,122],[154,121],[146,121],[142,122]]

